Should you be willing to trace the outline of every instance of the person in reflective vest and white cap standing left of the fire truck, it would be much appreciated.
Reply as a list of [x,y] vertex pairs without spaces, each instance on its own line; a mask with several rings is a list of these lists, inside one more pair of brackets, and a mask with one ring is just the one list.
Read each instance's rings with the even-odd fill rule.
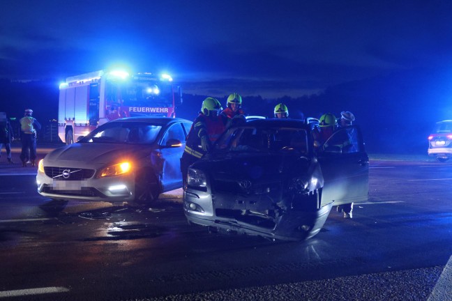
[[36,130],[40,130],[40,123],[36,118],[31,117],[32,109],[25,110],[25,116],[20,118],[20,141],[22,141],[22,151],[20,160],[22,167],[27,167],[27,162],[35,166],[36,160]]

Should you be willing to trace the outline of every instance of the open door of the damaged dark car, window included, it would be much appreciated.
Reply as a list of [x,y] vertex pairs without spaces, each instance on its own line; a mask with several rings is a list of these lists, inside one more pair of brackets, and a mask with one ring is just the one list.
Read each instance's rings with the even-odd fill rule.
[[357,125],[334,132],[317,156],[324,176],[322,206],[368,200],[369,158]]

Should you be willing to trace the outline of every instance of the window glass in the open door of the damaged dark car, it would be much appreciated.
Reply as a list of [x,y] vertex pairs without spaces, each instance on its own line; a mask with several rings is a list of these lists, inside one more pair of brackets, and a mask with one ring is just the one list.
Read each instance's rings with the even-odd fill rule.
[[334,132],[325,142],[324,150],[335,149],[338,153],[358,153],[361,150],[358,130],[354,127],[347,127]]

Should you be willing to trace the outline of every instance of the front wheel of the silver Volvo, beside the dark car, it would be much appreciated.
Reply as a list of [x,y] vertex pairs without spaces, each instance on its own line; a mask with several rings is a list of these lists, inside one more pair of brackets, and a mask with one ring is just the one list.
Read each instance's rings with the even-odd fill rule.
[[149,169],[144,169],[135,176],[135,203],[149,205],[158,199],[160,185],[156,175]]

